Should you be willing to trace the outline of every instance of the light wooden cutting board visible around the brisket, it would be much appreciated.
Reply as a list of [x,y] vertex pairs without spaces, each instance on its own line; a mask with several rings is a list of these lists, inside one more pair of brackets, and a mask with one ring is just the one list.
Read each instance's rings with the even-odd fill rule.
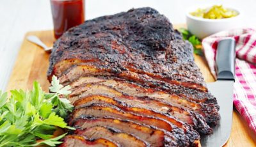
[[[175,27],[179,28],[182,26],[184,25],[177,25]],[[54,42],[52,31],[33,31],[26,34],[26,36],[28,35],[38,36],[49,46]],[[44,91],[48,91],[49,82],[47,81],[46,72],[49,66],[49,54],[44,52],[40,47],[28,42],[25,38],[20,47],[20,52],[13,67],[6,91],[19,88],[31,89],[33,81],[40,82]],[[205,59],[195,55],[195,61],[203,73],[205,81],[214,81]],[[232,133],[225,146],[256,146],[256,135],[248,128],[248,125],[246,125],[246,122],[236,110],[234,110],[233,114]]]

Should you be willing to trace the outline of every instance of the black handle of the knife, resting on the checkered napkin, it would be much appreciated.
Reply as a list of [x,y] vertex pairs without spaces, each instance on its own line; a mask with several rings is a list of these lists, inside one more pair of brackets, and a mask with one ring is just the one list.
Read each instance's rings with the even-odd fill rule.
[[228,38],[218,42],[216,54],[217,80],[235,81],[236,42]]

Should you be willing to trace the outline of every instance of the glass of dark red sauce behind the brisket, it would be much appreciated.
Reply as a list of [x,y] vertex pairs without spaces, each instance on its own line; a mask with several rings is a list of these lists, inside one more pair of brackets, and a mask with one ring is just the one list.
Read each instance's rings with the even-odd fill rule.
[[84,22],[84,0],[51,0],[54,36]]

